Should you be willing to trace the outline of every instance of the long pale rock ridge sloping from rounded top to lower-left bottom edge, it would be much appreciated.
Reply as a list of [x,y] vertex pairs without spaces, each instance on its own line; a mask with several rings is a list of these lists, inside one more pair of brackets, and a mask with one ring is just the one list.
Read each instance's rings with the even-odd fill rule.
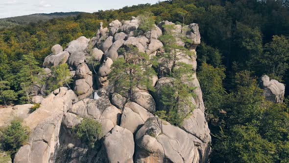
[[61,87],[43,99],[42,106],[24,119],[32,131],[14,163],[53,163],[59,148],[59,132],[64,114],[77,102],[72,90]]

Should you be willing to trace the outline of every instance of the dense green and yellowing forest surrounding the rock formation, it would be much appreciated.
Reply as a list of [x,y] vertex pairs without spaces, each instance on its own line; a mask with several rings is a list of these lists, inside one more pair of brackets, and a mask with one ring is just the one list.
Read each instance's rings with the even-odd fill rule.
[[[289,83],[288,0],[169,0],[0,31],[0,93],[26,103],[21,88],[27,54],[41,66],[55,44],[95,36],[99,23],[151,11],[156,24],[197,23],[202,36],[197,77],[212,135],[212,163],[288,163],[289,99],[265,101],[259,78]],[[289,89],[286,89],[286,96]],[[3,101],[0,100],[2,104]]]

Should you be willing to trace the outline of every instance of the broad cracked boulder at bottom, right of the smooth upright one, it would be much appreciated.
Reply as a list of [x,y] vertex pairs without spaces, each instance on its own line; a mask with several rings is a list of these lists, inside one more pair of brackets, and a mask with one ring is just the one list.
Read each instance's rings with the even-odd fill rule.
[[137,132],[135,162],[192,163],[199,157],[196,138],[156,117],[150,117]]

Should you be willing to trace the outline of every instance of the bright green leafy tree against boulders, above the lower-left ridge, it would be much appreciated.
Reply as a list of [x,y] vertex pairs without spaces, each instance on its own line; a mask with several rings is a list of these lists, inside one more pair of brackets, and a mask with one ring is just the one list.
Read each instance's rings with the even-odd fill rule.
[[64,85],[69,87],[72,82],[70,71],[67,63],[51,67],[52,76],[49,77],[49,91],[53,91]]

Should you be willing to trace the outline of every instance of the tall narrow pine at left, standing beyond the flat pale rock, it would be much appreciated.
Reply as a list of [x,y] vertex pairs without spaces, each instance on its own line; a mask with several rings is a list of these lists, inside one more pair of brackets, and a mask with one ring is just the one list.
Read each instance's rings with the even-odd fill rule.
[[18,73],[21,86],[20,93],[30,102],[30,96],[37,95],[36,86],[44,83],[44,70],[38,66],[39,63],[31,53],[23,55],[22,63],[23,67]]

